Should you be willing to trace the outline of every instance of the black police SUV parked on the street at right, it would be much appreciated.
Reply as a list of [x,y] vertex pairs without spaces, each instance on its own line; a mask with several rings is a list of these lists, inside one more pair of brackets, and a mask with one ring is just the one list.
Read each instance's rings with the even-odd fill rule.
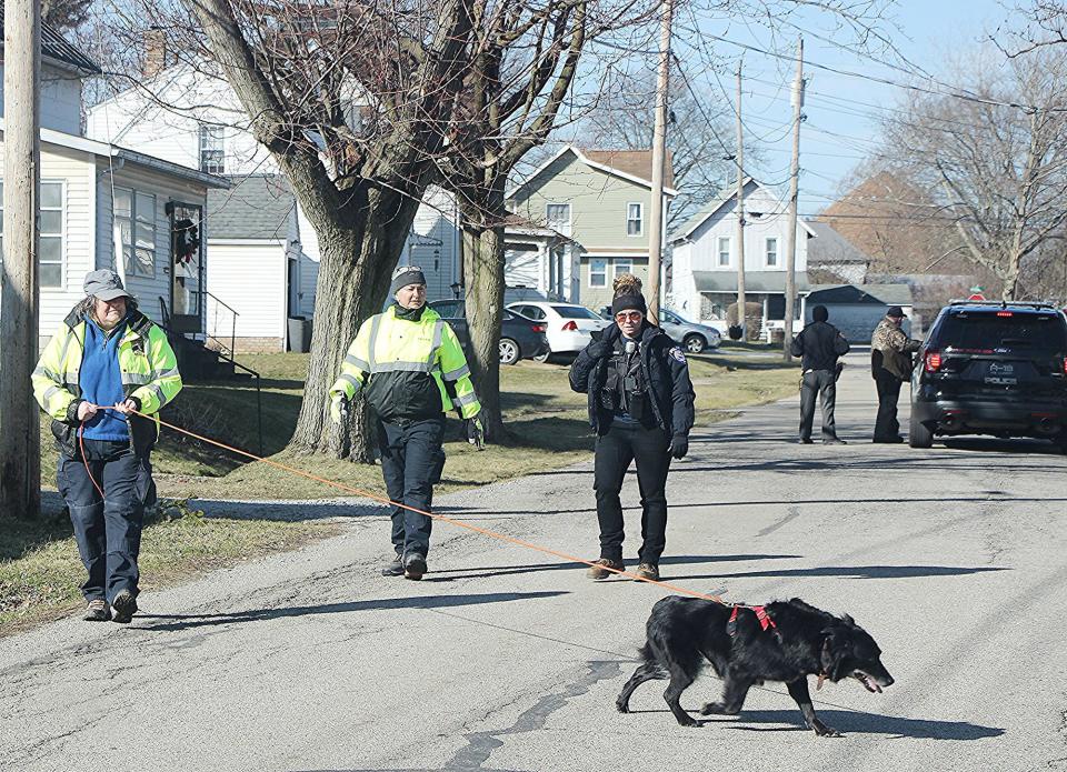
[[1067,451],[1067,317],[1047,303],[954,301],[911,375],[913,448],[935,435],[1037,437]]

